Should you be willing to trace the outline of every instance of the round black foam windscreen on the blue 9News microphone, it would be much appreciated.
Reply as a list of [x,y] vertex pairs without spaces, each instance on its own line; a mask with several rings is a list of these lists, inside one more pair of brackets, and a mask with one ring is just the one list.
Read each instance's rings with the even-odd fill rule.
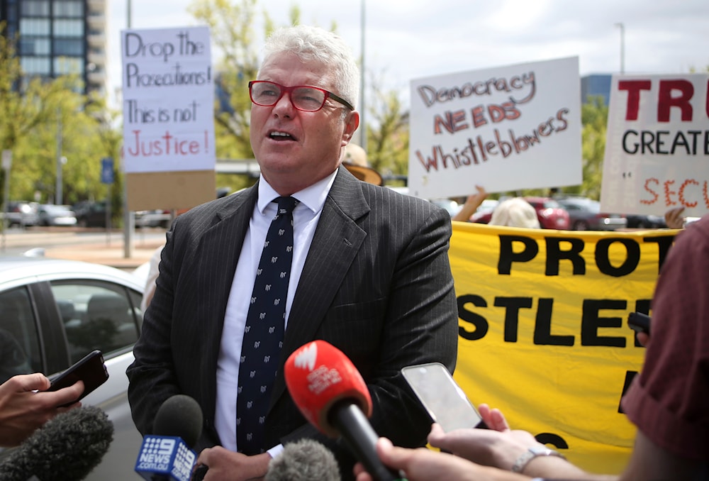
[[155,414],[152,434],[176,436],[193,447],[202,434],[202,409],[194,398],[186,394],[168,397]]

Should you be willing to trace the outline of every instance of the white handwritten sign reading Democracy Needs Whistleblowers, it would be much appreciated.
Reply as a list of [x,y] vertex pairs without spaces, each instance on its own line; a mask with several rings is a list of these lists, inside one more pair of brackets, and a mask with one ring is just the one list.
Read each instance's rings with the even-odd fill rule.
[[580,85],[578,57],[413,80],[409,191],[581,184]]

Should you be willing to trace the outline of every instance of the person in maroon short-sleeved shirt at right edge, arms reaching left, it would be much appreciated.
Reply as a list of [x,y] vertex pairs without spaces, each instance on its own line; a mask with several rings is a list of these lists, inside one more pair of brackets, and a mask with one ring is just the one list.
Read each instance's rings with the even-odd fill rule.
[[[593,475],[537,443],[527,431],[513,431],[500,411],[481,405],[491,429],[444,433],[434,425],[431,446],[448,450],[420,453],[380,439],[379,456],[402,469],[410,481],[430,479],[425,470],[451,480],[513,480],[513,472],[537,479],[705,480],[709,477],[709,216],[676,237],[661,268],[652,299],[652,333],[639,333],[647,345],[642,371],[623,397],[623,410],[637,426],[635,447],[618,476]],[[474,461],[463,463],[461,458]],[[501,470],[481,471],[489,465]],[[357,466],[357,481],[370,477]],[[504,470],[504,471],[503,471]],[[476,474],[476,477],[472,477]]]

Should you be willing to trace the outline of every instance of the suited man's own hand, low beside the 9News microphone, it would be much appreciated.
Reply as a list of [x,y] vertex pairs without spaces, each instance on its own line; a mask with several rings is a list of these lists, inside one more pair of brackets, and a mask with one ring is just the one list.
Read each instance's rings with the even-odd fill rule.
[[197,465],[206,465],[204,481],[262,480],[271,460],[269,453],[247,456],[222,446],[206,448],[199,453]]

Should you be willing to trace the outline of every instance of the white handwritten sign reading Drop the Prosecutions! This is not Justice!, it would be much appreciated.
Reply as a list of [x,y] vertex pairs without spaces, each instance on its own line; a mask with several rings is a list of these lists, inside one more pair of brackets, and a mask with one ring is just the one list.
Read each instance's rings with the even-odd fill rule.
[[207,27],[122,32],[125,172],[214,170]]

